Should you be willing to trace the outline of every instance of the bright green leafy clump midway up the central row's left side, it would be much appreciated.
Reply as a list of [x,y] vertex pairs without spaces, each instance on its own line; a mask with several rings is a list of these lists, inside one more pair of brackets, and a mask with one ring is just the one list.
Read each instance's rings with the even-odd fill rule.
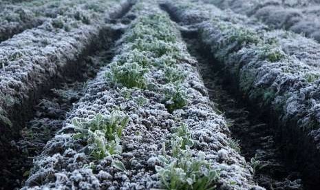
[[138,65],[138,63],[114,64],[111,66],[111,72],[107,72],[105,76],[112,82],[122,84],[125,87],[145,89],[147,87],[145,77],[147,72],[149,70]]

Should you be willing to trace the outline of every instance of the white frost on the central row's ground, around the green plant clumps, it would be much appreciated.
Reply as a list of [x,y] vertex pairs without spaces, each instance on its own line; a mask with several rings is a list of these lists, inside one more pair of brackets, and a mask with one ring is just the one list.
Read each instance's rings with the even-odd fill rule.
[[[161,12],[154,3],[139,3],[138,6],[139,9],[134,8],[138,11],[131,14],[139,16],[142,13]],[[154,169],[158,162],[156,157],[161,154],[162,142],[171,137],[171,129],[178,127],[181,122],[189,125],[193,138],[198,141],[193,151],[203,151],[206,158],[212,160],[213,167],[221,170],[219,189],[262,189],[253,184],[251,168],[244,158],[229,147],[230,131],[226,120],[213,110],[204,84],[193,66],[196,61],[187,53],[181,41],[177,45],[184,54],[184,59],[177,60],[177,66],[187,74],[182,82],[182,88],[188,94],[187,106],[172,114],[167,111],[161,101],[164,99],[164,87],[167,86],[163,85],[164,73],[158,67],[151,66],[148,74],[149,81],[158,87],[156,91],[114,86],[105,78],[105,73],[111,68],[104,67],[88,84],[87,93],[70,113],[65,127],[47,143],[41,156],[35,160],[32,175],[23,189],[159,188],[160,182]],[[125,42],[122,43],[118,52],[125,54],[126,46]],[[157,59],[155,62],[161,63]],[[131,91],[131,98],[125,97],[126,91]],[[136,97],[143,97],[147,101],[139,105],[134,99]],[[83,145],[81,140],[72,138],[75,131],[71,120],[90,119],[98,113],[109,115],[114,109],[130,118],[121,138],[123,152],[118,156],[127,171],[113,167],[109,158],[96,160],[94,172],[84,169],[90,160],[79,153]]]

